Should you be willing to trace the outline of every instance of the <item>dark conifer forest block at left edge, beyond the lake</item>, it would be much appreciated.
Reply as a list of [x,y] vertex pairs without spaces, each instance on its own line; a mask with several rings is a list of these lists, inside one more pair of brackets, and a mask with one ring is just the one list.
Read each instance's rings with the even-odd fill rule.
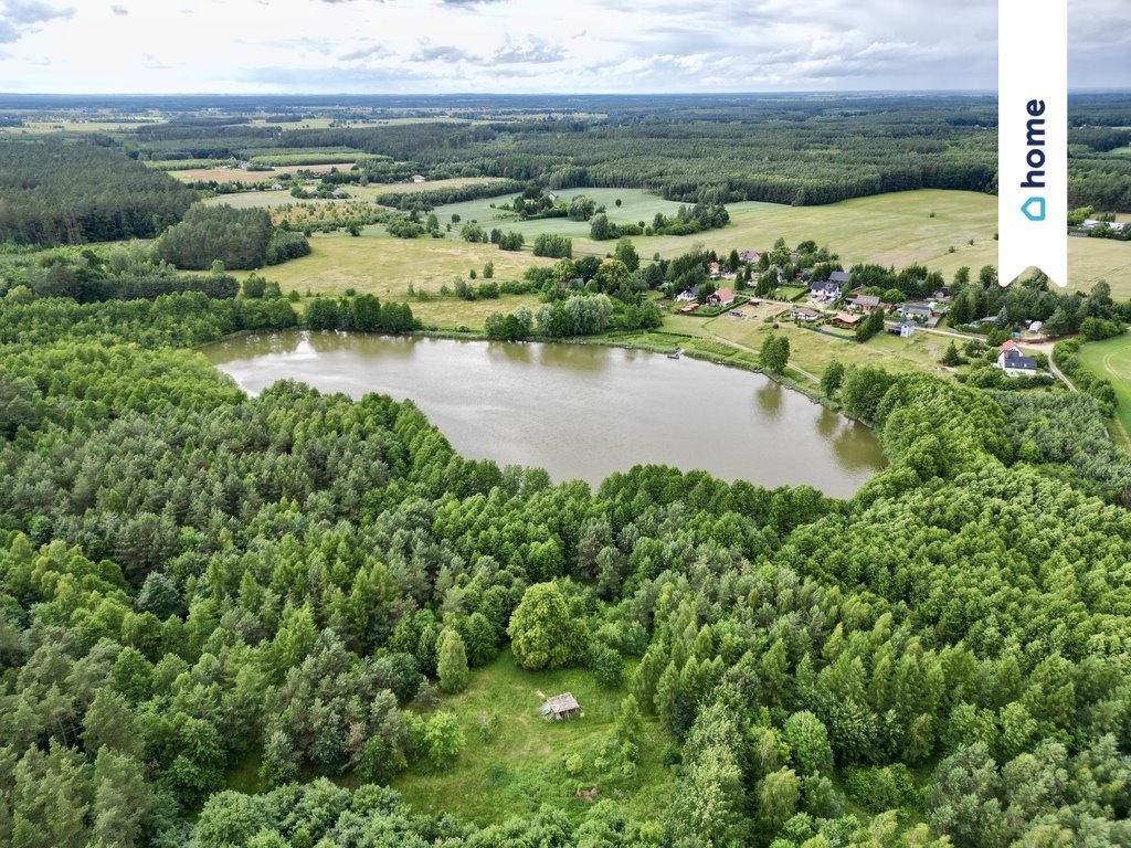
[[0,140],[0,242],[81,244],[152,239],[196,192],[86,141]]

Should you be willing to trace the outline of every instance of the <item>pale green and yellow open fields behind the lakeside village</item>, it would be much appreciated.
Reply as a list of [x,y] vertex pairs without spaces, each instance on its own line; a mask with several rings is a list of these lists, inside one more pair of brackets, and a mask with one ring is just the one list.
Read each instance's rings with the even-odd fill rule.
[[[570,189],[556,192],[569,199],[576,194],[592,197],[607,207],[614,223],[650,223],[657,211],[674,215],[680,204],[648,194],[639,189]],[[533,241],[538,233],[553,233],[573,239],[576,253],[604,256],[614,242],[595,242],[589,225],[566,218],[519,222],[507,219],[506,213],[491,204],[508,202],[513,196],[486,198],[466,204],[439,207],[441,223],[452,213],[461,220],[477,219],[486,228],[498,226],[515,230]],[[622,205],[615,207],[620,198]],[[829,206],[780,206],[777,204],[728,204],[731,224],[688,236],[633,236],[632,243],[641,257],[655,253],[672,258],[693,244],[703,244],[719,253],[737,250],[766,250],[778,237],[789,246],[812,239],[840,256],[848,267],[856,262],[874,262],[904,268],[922,262],[947,277],[958,268],[969,266],[975,272],[985,265],[998,265],[998,198],[970,191],[924,189],[877,197],[856,198]],[[932,217],[933,213],[933,217]],[[970,244],[970,240],[974,244]],[[953,248],[953,252],[950,252]],[[1069,284],[1088,289],[1106,279],[1116,297],[1131,297],[1131,243],[1106,239],[1069,239]]]

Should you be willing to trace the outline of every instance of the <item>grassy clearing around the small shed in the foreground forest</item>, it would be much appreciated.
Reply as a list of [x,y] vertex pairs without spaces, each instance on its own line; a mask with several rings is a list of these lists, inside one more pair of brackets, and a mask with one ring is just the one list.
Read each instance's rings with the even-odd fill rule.
[[[539,691],[546,695],[572,692],[585,715],[572,721],[541,718]],[[530,814],[542,804],[580,819],[589,803],[576,793],[594,787],[597,799],[613,798],[639,820],[663,819],[672,788],[671,772],[662,763],[670,737],[655,719],[645,719],[636,778],[612,780],[594,767],[601,747],[613,737],[624,694],[598,687],[584,669],[524,670],[508,650],[474,672],[467,691],[441,699],[438,709],[454,712],[467,738],[459,759],[441,773],[414,765],[392,788],[416,810],[450,813],[480,824]],[[480,721],[491,712],[499,717],[498,730],[485,741]],[[575,753],[584,767],[571,778],[564,760]]]

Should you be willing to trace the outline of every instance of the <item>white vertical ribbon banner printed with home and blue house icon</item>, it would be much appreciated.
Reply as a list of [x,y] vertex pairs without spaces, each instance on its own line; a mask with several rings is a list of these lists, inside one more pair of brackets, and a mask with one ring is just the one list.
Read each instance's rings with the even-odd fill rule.
[[998,2],[998,275],[1068,285],[1068,0]]

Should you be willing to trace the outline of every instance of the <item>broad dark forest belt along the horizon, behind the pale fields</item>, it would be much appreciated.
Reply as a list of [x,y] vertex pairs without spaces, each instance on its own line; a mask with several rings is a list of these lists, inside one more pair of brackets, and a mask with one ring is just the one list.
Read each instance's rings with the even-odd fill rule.
[[[972,97],[614,101],[602,120],[407,123],[316,130],[145,126],[143,158],[351,148],[370,181],[497,176],[551,189],[642,188],[682,202],[811,206],[922,188],[996,191],[996,101]],[[594,105],[594,111],[599,111]],[[1079,97],[1070,204],[1131,210],[1131,99]]]

